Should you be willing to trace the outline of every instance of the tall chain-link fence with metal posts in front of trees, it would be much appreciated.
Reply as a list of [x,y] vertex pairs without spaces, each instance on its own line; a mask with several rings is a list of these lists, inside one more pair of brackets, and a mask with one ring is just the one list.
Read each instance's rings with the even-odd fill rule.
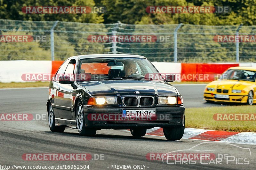
[[[0,60],[64,60],[82,54],[136,54],[164,62],[252,62],[256,42],[221,42],[217,35],[254,35],[256,26],[127,25],[0,19]],[[31,42],[8,42],[30,35]],[[150,35],[154,41],[94,41],[98,35]]]

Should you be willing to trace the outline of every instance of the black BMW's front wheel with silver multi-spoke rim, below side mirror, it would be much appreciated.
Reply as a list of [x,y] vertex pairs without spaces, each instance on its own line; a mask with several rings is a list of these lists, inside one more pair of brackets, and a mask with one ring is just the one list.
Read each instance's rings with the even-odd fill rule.
[[79,101],[76,105],[76,127],[78,133],[82,136],[94,136],[97,132],[96,129],[85,128],[84,110],[81,101]]

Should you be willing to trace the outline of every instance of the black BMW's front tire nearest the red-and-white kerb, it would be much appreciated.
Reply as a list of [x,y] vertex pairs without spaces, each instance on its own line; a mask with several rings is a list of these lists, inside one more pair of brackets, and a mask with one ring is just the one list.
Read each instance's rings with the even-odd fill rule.
[[167,140],[180,140],[183,137],[185,130],[185,119],[184,119],[184,126],[181,127],[174,127],[174,128],[163,128],[164,137]]

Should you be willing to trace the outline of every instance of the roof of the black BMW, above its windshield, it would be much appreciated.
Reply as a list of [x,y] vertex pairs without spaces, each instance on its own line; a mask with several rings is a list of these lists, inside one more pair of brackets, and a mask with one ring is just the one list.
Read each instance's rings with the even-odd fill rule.
[[86,58],[107,58],[107,57],[131,57],[131,58],[146,58],[142,55],[131,55],[131,54],[89,54],[89,55],[76,55],[69,57],[70,58],[76,58],[76,59],[86,59]]

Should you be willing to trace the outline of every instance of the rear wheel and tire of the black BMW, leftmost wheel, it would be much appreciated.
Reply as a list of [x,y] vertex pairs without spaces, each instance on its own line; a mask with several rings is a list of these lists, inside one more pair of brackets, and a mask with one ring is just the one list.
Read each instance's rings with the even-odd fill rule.
[[64,126],[55,126],[55,115],[52,107],[52,103],[48,106],[48,123],[49,128],[52,132],[64,132]]

